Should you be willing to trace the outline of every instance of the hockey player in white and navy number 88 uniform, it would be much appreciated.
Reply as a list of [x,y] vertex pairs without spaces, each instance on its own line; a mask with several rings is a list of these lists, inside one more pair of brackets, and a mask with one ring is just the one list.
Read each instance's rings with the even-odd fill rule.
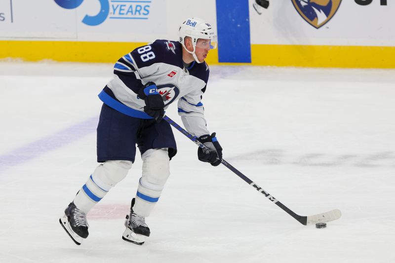
[[221,163],[222,148],[206,128],[202,95],[209,68],[209,51],[216,48],[212,26],[190,18],[178,30],[179,41],[159,39],[121,57],[114,78],[99,94],[103,101],[97,127],[97,161],[59,220],[78,245],[88,236],[86,214],[125,178],[135,159],[136,145],[143,160],[137,193],[126,216],[122,239],[142,245],[150,229],[145,223],[158,202],[170,174],[169,161],[177,147],[170,124],[162,119],[169,104],[178,100],[178,113],[188,132],[210,150],[197,151],[198,159]]

